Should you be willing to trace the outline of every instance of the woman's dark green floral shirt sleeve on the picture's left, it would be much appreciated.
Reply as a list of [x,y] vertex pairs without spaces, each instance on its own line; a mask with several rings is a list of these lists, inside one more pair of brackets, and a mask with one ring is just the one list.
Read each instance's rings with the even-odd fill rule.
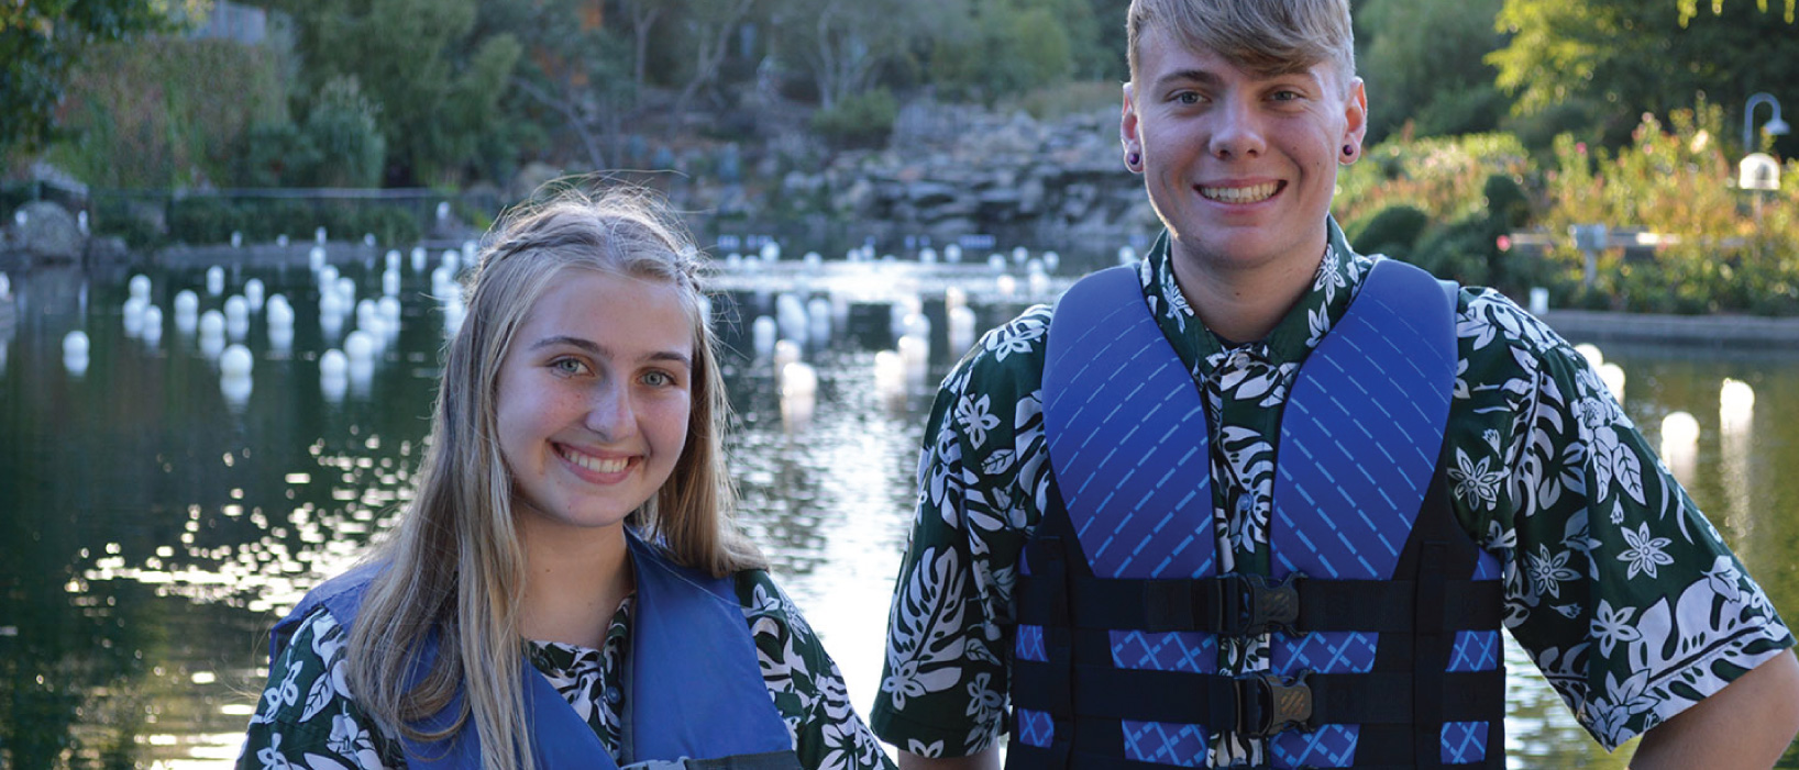
[[270,662],[268,685],[250,716],[239,768],[398,768],[399,743],[349,693],[349,631],[324,606]]

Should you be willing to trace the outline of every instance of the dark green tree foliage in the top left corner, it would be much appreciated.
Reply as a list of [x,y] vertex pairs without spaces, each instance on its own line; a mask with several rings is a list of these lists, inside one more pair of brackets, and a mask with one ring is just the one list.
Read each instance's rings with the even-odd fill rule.
[[68,67],[85,47],[167,29],[169,11],[144,0],[0,4],[0,158],[52,137]]

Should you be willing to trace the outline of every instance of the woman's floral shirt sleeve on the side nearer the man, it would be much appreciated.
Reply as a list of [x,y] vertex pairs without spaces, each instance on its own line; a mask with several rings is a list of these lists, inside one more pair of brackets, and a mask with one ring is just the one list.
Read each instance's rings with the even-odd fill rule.
[[763,570],[738,574],[738,599],[750,622],[763,682],[806,770],[892,770],[849,703],[837,662],[799,606]]

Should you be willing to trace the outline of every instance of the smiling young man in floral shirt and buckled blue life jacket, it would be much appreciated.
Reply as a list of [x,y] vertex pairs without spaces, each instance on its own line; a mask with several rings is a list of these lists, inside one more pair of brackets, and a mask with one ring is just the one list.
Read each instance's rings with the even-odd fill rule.
[[1135,0],[1168,232],[943,383],[874,730],[901,768],[1504,766],[1499,626],[1635,766],[1770,766],[1794,635],[1572,347],[1349,250],[1346,0]]

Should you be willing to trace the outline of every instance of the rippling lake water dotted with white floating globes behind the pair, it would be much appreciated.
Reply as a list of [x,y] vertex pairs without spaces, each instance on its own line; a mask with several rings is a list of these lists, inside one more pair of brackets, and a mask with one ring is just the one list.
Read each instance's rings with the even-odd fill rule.
[[[320,354],[356,320],[322,329],[315,273],[295,255],[228,270],[223,295],[205,290],[200,266],[140,270],[166,317],[155,342],[124,324],[139,270],[11,277],[0,300],[13,317],[0,309],[0,766],[227,766],[263,685],[268,624],[390,525],[421,457],[444,338],[430,275],[401,266],[398,333],[372,371],[327,381]],[[374,250],[333,248],[329,261],[358,297],[381,293]],[[192,290],[201,311],[221,308],[252,277],[284,293],[297,322],[277,347],[252,313],[245,392],[221,383],[214,345],[178,329],[173,306]],[[858,709],[880,680],[930,405],[923,383],[953,360],[944,290],[964,291],[986,329],[1063,282],[1020,266],[878,263],[721,275],[714,309],[736,351],[727,376],[743,520]],[[804,425],[783,417],[774,365],[748,331],[793,290],[838,313],[833,335],[806,345],[819,390]],[[876,380],[880,351],[894,347],[894,297],[923,297],[935,329],[928,374],[900,394]],[[76,329],[90,340],[79,374],[63,347]],[[1605,356],[1628,374],[1626,410],[1651,441],[1669,412],[1696,417],[1696,444],[1671,448],[1671,466],[1776,606],[1799,619],[1799,353]],[[1752,417],[1720,417],[1725,378],[1754,390]],[[1598,750],[1520,653],[1508,664],[1513,768],[1624,766],[1628,750]],[[1799,768],[1799,750],[1781,766]]]

